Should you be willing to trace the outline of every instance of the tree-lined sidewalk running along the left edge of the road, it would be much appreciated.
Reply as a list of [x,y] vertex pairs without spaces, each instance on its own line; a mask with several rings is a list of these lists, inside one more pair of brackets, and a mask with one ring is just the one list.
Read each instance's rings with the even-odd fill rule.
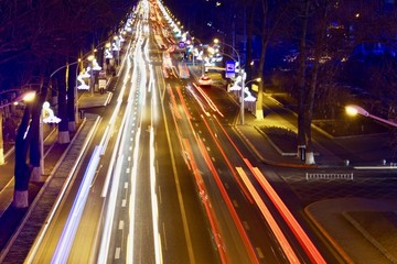
[[[106,106],[111,92],[83,94],[79,97],[79,108]],[[95,128],[97,114],[84,113],[78,131],[71,135],[67,144],[54,143],[51,152],[44,158],[46,176],[43,182],[30,183],[29,202],[26,209],[15,209],[11,206],[13,195],[13,178],[0,193],[0,263],[23,263],[26,254],[36,239],[40,230],[45,226],[45,220],[62,194],[65,182],[69,178],[71,169],[76,165],[78,156],[88,142],[90,131]],[[1,166],[2,176],[13,175],[14,156],[11,152]],[[20,229],[15,232],[15,228]],[[11,239],[10,239],[11,237]]]

